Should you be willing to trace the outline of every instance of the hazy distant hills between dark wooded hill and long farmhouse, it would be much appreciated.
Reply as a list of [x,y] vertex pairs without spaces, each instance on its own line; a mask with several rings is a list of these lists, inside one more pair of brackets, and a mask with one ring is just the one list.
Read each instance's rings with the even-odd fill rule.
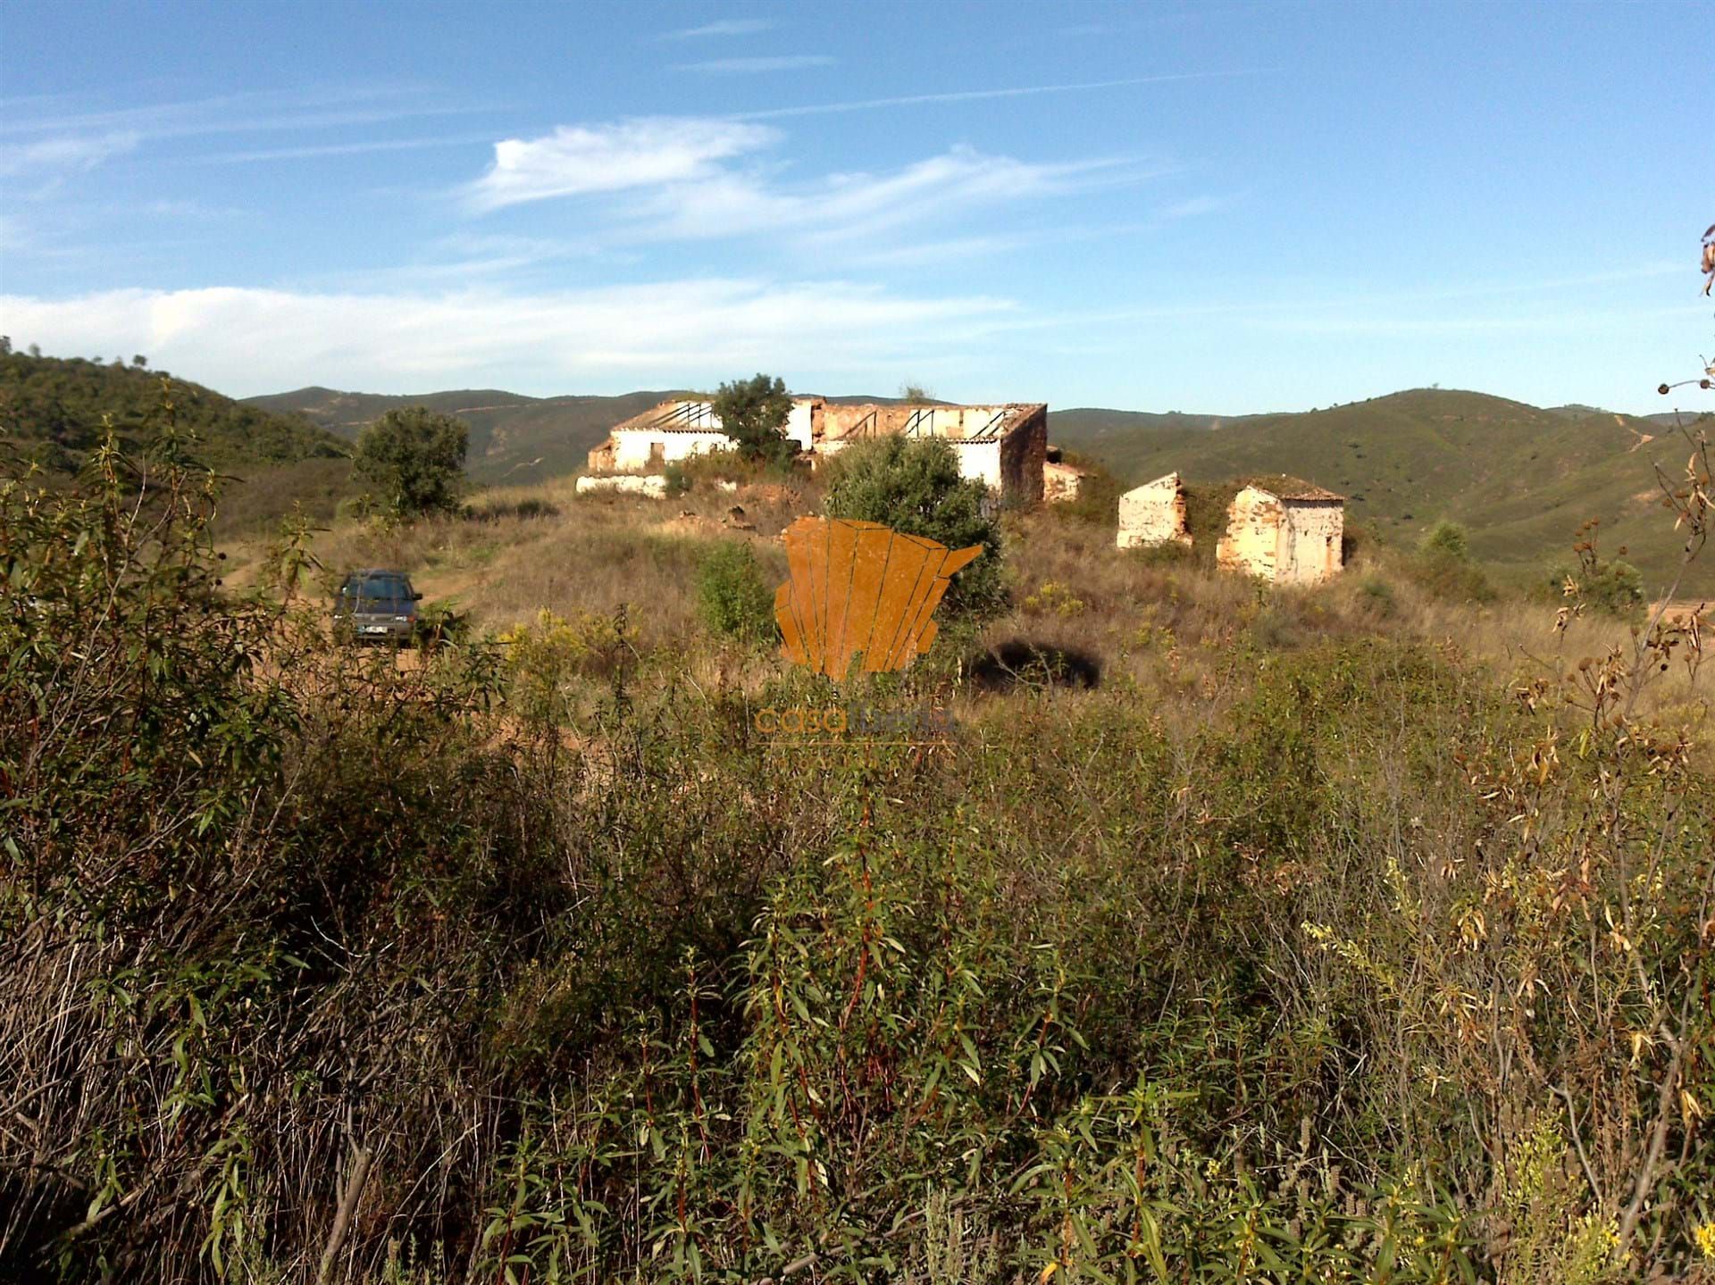
[[245,403],[295,415],[355,441],[365,424],[400,407],[429,407],[470,425],[465,470],[477,482],[539,482],[583,468],[585,456],[619,420],[631,419],[672,393],[619,396],[523,396],[494,388],[451,393],[341,393],[300,388],[252,396]]

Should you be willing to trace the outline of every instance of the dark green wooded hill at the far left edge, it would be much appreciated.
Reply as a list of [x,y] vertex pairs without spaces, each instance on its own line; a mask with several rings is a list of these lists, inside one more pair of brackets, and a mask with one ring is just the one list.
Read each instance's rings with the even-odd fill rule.
[[314,424],[233,401],[165,371],[21,352],[0,353],[0,443],[50,472],[70,472],[101,441],[106,420],[120,441],[144,444],[159,429],[165,395],[173,400],[178,427],[199,439],[197,456],[218,468],[348,453]]

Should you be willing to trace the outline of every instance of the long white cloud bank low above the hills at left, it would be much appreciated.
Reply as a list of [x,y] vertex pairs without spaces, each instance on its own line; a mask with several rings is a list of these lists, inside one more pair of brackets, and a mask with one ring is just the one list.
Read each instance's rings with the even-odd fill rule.
[[597,290],[0,295],[0,331],[46,352],[146,352],[223,393],[496,384],[617,391],[741,369],[897,371],[1019,316],[1007,299],[916,299],[844,281],[688,280]]

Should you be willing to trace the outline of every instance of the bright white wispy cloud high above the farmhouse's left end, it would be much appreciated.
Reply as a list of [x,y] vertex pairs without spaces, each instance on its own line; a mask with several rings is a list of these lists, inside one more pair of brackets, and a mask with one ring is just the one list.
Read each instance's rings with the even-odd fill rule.
[[703,178],[715,161],[767,148],[765,125],[705,117],[643,117],[612,125],[561,125],[539,139],[494,144],[489,172],[466,189],[477,209],[556,196],[621,192]]

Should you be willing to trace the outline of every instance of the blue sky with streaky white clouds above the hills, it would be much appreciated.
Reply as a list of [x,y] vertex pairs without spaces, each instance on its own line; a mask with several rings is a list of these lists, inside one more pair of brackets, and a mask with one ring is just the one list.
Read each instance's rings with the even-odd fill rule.
[[1660,410],[1712,3],[96,5],[0,24],[0,331],[233,395]]

